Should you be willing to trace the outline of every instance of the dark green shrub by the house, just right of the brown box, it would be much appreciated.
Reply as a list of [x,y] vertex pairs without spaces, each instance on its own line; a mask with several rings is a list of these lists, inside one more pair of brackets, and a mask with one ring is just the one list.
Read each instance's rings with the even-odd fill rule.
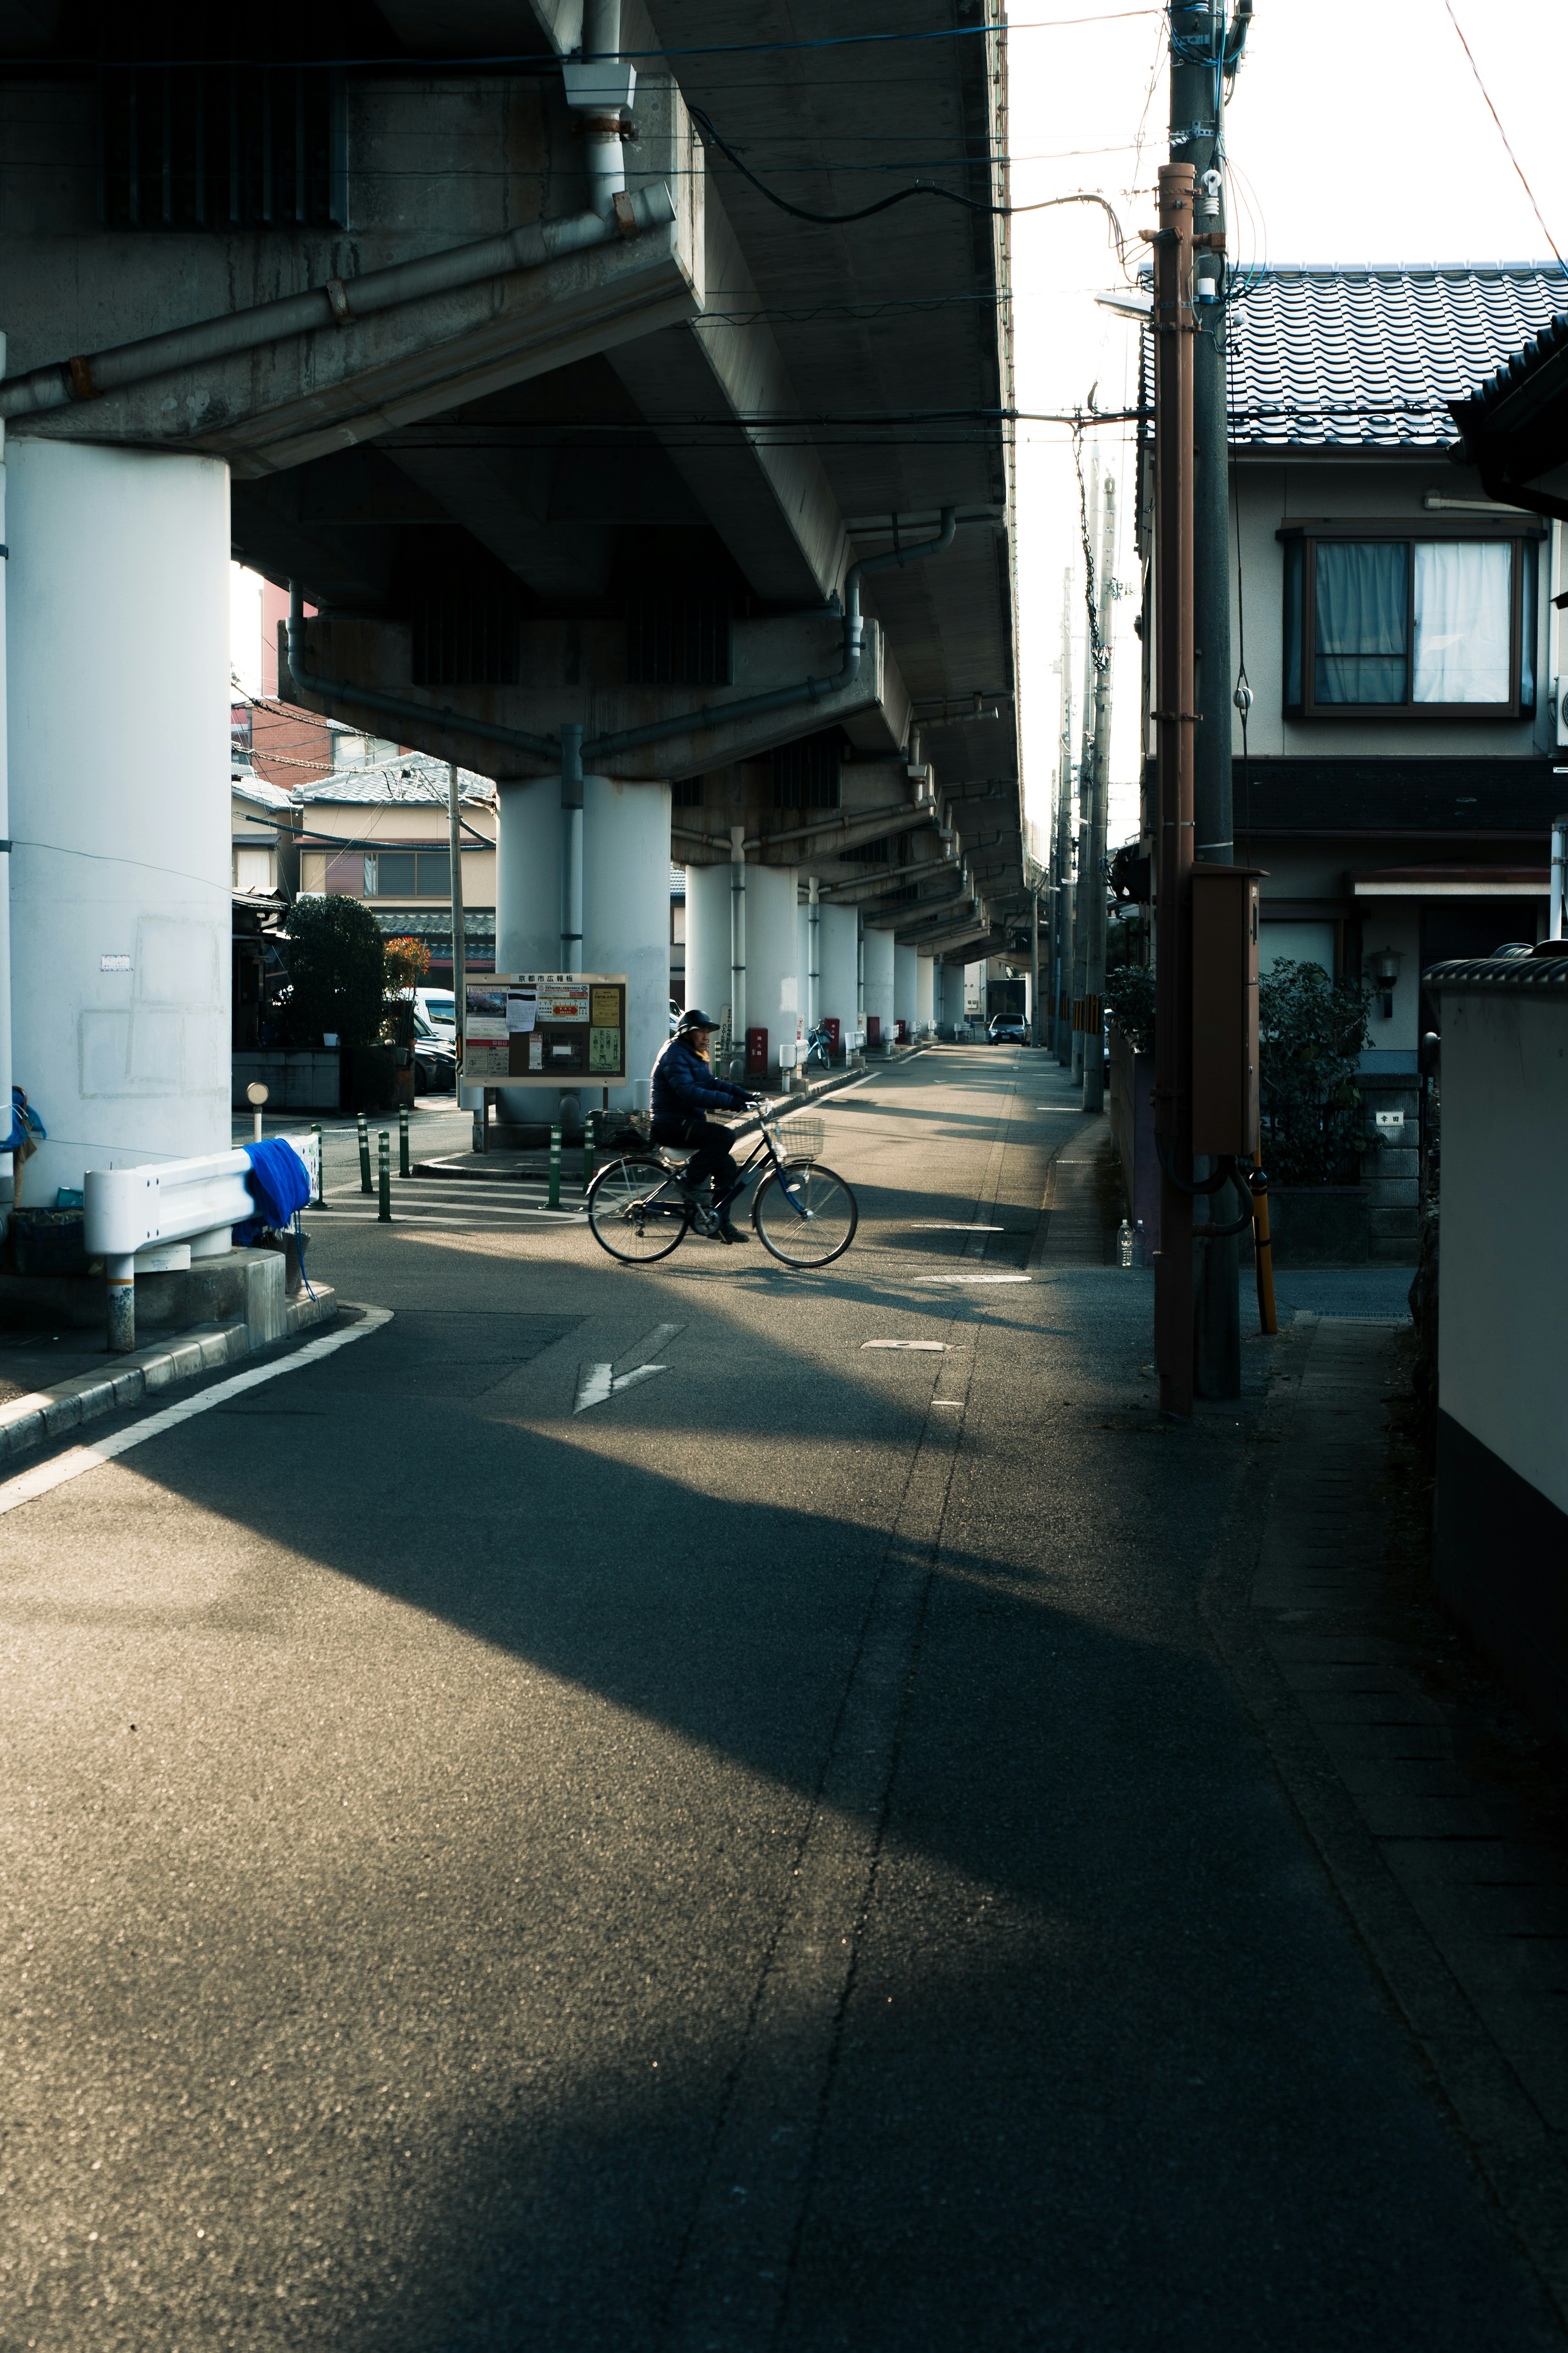
[[1262,1165],[1274,1184],[1354,1184],[1368,1148],[1356,1066],[1373,986],[1284,958],[1258,981]]

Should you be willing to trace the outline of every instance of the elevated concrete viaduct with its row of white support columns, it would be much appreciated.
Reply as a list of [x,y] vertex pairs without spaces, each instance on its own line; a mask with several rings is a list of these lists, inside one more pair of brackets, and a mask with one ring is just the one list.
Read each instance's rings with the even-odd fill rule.
[[[919,962],[1023,932],[1001,52],[929,0],[842,33],[0,0],[54,1181],[226,1136],[230,553],[294,588],[284,694],[498,779],[498,965],[632,972],[635,1066],[668,856],[691,995],[773,1052],[943,1019]],[[811,219],[914,179],[969,202]]]

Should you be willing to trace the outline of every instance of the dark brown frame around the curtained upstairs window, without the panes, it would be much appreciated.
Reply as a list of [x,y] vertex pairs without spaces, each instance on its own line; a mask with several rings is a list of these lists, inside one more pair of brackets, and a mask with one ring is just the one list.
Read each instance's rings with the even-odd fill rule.
[[[1535,711],[1537,685],[1530,680],[1530,699],[1523,699],[1521,673],[1523,673],[1523,631],[1526,631],[1526,562],[1533,560],[1540,567],[1537,548],[1547,536],[1547,525],[1533,518],[1497,518],[1490,515],[1432,515],[1432,520],[1356,520],[1356,522],[1286,522],[1274,534],[1284,546],[1286,581],[1281,584],[1279,614],[1281,614],[1281,638],[1284,638],[1284,661],[1281,661],[1281,708],[1288,720],[1401,720],[1406,725],[1425,720],[1523,720]],[[1316,548],[1319,541],[1347,541],[1347,539],[1401,539],[1410,548],[1410,562],[1406,565],[1406,685],[1415,685],[1415,546],[1432,541],[1483,541],[1486,546],[1512,548],[1509,565],[1509,680],[1512,694],[1502,704],[1319,704],[1314,696],[1316,685]],[[1288,567],[1293,551],[1300,548],[1300,614],[1298,628],[1300,638],[1291,647],[1291,595],[1288,595]],[[1528,553],[1526,553],[1528,551]],[[1537,612],[1533,614],[1537,621]],[[1300,696],[1291,701],[1291,671],[1300,671]],[[1535,664],[1533,664],[1535,671]]]

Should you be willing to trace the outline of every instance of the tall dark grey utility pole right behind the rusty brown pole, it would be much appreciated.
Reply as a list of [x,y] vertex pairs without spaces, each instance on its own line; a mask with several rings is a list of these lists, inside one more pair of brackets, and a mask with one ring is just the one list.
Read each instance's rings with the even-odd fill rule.
[[[1192,767],[1194,859],[1234,864],[1232,661],[1229,661],[1229,431],[1225,400],[1225,78],[1237,71],[1253,0],[1187,0],[1171,9],[1171,155],[1192,165],[1197,334],[1192,346],[1192,635],[1197,659],[1197,741]],[[1192,1169],[1194,1181],[1208,1162]],[[1208,1200],[1199,1202],[1197,1393],[1241,1395],[1241,1304],[1237,1235],[1208,1242]],[[1229,1198],[1225,1207],[1229,1217]]]

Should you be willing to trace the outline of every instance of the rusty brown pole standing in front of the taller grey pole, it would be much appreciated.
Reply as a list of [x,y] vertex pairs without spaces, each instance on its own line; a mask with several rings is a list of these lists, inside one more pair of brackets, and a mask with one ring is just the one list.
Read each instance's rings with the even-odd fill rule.
[[1154,1134],[1161,1146],[1154,1257],[1159,1409],[1192,1417],[1192,1195],[1166,1169],[1192,1169],[1192,341],[1194,172],[1159,167],[1154,233],[1154,755],[1159,880],[1154,896]]

